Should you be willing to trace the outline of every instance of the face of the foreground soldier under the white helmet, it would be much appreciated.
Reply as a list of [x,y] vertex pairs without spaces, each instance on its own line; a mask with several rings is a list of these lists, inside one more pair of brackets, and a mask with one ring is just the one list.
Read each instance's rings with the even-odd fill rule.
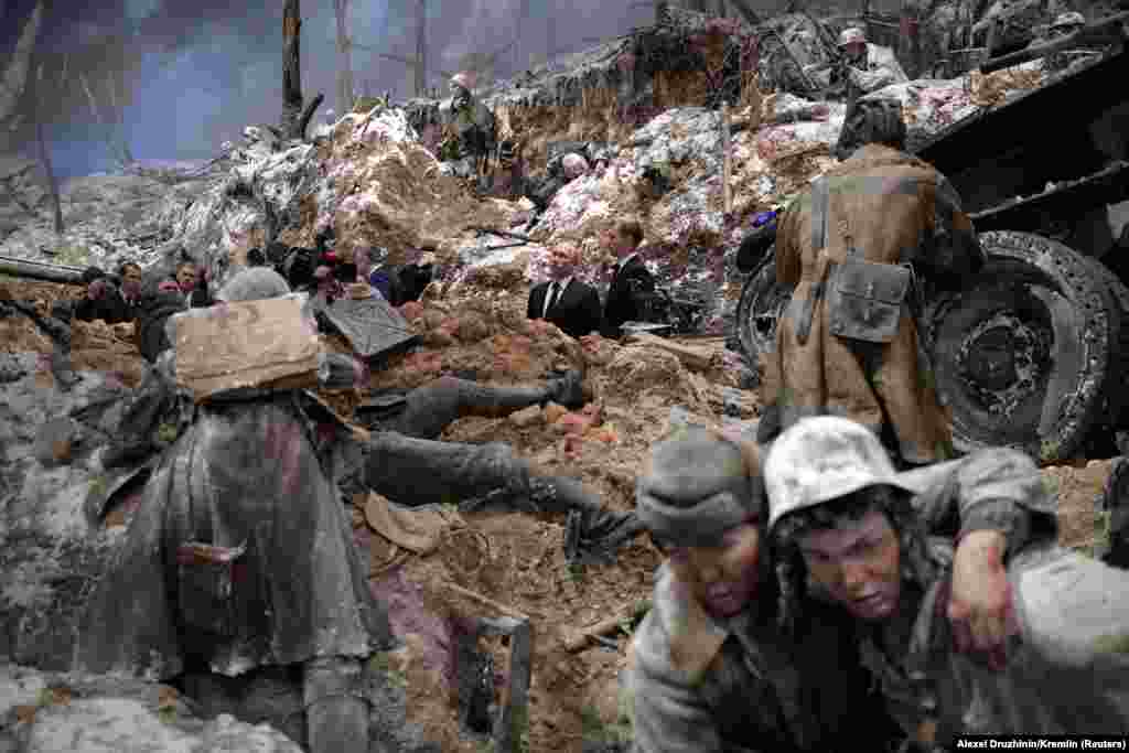
[[885,514],[842,518],[838,526],[800,537],[811,578],[860,620],[886,620],[901,595],[901,550]]

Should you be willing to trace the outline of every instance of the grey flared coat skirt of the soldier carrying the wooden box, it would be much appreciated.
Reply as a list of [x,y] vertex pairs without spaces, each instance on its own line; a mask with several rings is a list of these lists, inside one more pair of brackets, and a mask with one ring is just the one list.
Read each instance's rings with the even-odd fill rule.
[[89,603],[78,668],[166,678],[193,655],[235,676],[386,648],[387,614],[296,393],[198,411]]

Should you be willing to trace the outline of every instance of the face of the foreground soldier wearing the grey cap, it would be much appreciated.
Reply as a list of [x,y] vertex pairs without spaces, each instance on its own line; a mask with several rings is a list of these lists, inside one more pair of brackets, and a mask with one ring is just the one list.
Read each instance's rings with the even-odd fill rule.
[[675,576],[714,616],[739,613],[756,594],[760,532],[754,519],[727,531],[716,546],[673,549],[669,557]]

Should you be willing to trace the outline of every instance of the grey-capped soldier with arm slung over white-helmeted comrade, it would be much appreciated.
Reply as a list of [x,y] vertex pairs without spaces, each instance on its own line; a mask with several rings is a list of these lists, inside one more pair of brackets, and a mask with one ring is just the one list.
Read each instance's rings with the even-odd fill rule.
[[[978,501],[990,496],[990,487],[970,483]],[[983,581],[1001,563],[980,560],[998,552],[978,548],[978,539],[992,528],[1017,545],[1030,527],[1018,518],[1027,513],[1007,499],[963,509],[938,501],[946,507],[925,502],[938,532],[951,535],[940,526],[960,518],[973,545],[956,553],[954,630],[974,631],[987,648],[1004,630],[1003,612],[992,610],[1005,603],[1006,583]],[[870,691],[843,613],[814,607],[803,629],[779,630],[753,443],[704,427],[675,429],[651,449],[636,502],[667,555],[623,677],[636,753],[889,750],[901,735]]]

